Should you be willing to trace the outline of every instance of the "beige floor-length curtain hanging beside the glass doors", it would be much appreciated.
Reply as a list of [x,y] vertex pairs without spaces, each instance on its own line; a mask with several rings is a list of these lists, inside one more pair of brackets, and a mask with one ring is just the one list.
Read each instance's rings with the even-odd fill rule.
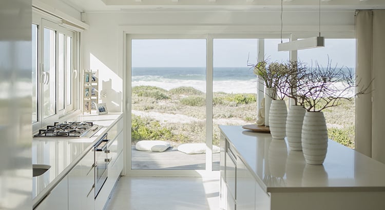
[[385,163],[385,10],[356,12],[357,81],[372,92],[356,98],[356,151]]

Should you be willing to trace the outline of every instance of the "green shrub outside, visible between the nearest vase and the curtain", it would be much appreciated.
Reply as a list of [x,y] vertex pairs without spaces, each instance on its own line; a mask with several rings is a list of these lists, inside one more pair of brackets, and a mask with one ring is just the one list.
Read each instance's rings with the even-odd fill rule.
[[330,139],[349,148],[354,148],[354,126],[344,127],[342,129],[329,128],[328,135]]

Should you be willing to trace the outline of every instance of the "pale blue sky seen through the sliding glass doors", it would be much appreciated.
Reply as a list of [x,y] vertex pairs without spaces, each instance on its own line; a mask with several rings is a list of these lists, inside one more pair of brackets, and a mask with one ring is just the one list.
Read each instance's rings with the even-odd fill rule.
[[[284,42],[287,40],[284,40]],[[265,56],[284,61],[288,52],[278,52],[280,39],[265,39]],[[355,66],[355,39],[325,39],[325,47],[298,51],[301,61],[318,61],[325,66],[328,55],[333,65]],[[247,67],[257,61],[257,39],[214,39],[214,67]],[[204,67],[205,39],[135,39],[132,40],[133,67]]]

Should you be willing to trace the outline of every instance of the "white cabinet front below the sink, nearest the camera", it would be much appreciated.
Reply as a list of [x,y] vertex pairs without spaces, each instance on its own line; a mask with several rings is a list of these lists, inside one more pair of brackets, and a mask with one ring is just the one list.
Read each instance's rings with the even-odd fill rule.
[[35,210],[68,210],[68,176],[65,176]]

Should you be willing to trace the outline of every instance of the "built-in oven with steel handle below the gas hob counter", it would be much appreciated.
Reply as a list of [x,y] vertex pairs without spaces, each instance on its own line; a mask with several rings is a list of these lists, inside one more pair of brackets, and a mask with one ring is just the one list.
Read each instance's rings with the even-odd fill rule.
[[105,134],[94,146],[95,154],[95,198],[98,196],[108,177],[109,150]]

